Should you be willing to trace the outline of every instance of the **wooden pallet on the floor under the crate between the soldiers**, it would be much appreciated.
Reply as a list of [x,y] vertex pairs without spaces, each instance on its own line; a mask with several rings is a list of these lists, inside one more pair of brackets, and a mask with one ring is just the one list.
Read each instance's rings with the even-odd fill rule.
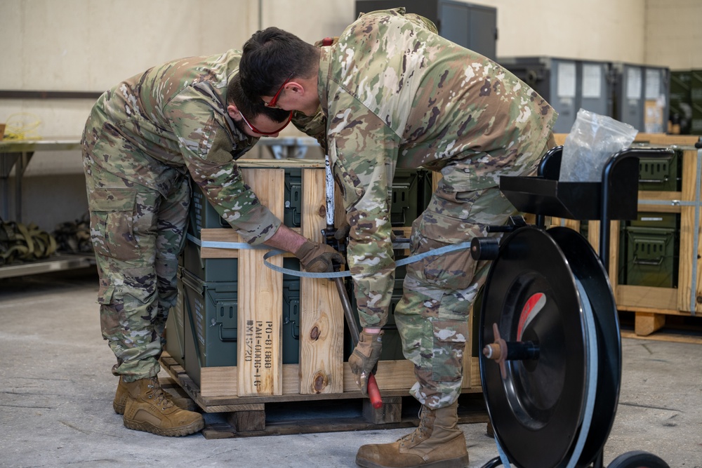
[[[397,429],[415,427],[419,422],[420,405],[406,390],[383,392],[383,407],[379,410],[360,392],[204,397],[185,370],[167,353],[161,356],[161,366],[171,377],[161,379],[161,385],[180,397],[179,406],[185,407],[187,402],[183,402],[183,397],[187,396],[192,402],[190,409],[219,413],[217,417],[207,418],[212,421],[206,423],[202,432],[206,439]],[[458,405],[459,424],[488,422],[481,393],[461,394]]]

